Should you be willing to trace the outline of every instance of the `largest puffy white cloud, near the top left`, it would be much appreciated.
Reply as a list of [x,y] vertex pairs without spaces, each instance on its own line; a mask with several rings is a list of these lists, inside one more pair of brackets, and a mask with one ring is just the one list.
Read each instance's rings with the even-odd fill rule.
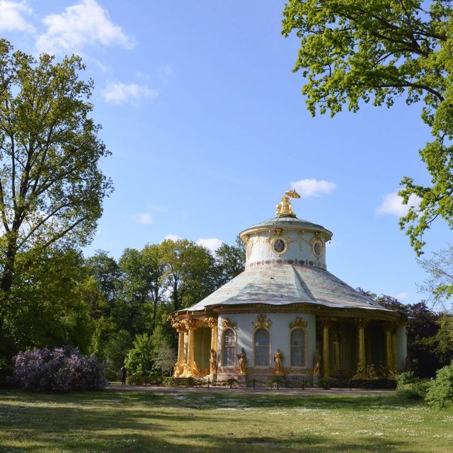
[[42,22],[47,31],[36,40],[39,52],[77,53],[93,44],[134,47],[134,39],[111,22],[108,11],[95,0],[82,0],[60,14],[45,16]]

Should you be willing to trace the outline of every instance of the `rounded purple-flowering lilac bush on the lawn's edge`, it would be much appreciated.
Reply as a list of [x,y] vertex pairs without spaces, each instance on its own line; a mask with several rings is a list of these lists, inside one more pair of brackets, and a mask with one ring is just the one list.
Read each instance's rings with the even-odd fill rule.
[[13,384],[23,389],[91,390],[107,384],[105,364],[71,346],[19,352],[13,362]]

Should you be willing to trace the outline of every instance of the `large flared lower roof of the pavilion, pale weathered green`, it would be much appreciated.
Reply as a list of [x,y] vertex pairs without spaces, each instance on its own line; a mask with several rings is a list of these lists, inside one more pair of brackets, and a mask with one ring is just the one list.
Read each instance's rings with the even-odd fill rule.
[[327,270],[287,263],[248,268],[201,302],[188,308],[188,311],[254,303],[315,304],[331,308],[389,311]]

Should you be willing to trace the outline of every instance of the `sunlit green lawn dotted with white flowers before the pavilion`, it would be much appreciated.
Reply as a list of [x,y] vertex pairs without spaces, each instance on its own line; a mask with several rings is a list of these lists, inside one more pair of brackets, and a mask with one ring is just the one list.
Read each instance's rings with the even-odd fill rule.
[[452,452],[453,409],[381,396],[0,392],[0,452]]

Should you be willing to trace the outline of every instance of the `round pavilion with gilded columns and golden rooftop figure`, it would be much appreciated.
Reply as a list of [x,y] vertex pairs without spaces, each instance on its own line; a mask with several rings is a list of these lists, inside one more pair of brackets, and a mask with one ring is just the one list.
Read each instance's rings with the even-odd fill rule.
[[290,190],[277,217],[240,233],[246,269],[171,315],[175,377],[295,382],[394,377],[406,365],[406,321],[326,266],[332,232],[298,219]]

